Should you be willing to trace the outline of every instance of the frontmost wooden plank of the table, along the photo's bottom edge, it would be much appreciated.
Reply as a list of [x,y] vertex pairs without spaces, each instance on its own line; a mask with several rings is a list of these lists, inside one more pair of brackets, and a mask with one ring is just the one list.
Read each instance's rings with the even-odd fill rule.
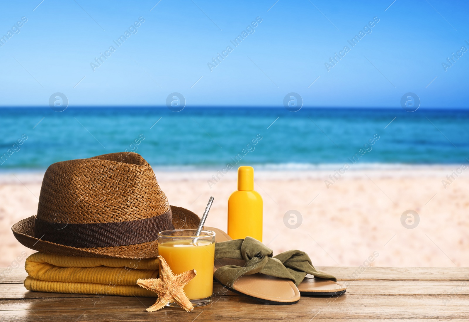
[[[109,296],[99,302],[84,298],[0,300],[3,321],[267,321],[288,319],[467,319],[469,296],[356,296],[303,297],[294,306],[259,305],[241,296],[221,296],[212,306],[192,313],[164,308],[145,312],[154,299]],[[200,315],[198,315],[200,314]],[[389,321],[389,320],[388,320]]]

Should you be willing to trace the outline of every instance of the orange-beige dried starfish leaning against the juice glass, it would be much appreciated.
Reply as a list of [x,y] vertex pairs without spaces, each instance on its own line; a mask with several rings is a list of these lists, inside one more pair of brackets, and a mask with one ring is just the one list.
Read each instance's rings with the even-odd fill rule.
[[159,309],[165,307],[169,302],[176,302],[187,312],[192,311],[194,306],[182,288],[197,275],[196,270],[191,269],[179,275],[174,275],[165,259],[162,256],[158,256],[158,259],[161,267],[159,271],[160,278],[146,278],[137,280],[138,285],[158,294],[157,301],[146,310],[148,312],[158,311]]

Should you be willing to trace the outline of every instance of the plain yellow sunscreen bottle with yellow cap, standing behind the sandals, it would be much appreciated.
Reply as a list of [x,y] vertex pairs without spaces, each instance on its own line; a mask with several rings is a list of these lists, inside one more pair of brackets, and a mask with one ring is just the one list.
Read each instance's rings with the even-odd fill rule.
[[238,168],[238,190],[228,199],[228,235],[233,239],[250,236],[262,242],[261,195],[254,191],[254,169]]

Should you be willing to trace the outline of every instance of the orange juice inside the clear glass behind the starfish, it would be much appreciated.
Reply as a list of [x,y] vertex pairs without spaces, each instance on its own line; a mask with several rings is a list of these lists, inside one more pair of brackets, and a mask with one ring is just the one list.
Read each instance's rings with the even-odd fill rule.
[[197,275],[184,286],[189,299],[204,299],[213,294],[213,258],[215,243],[192,239],[167,241],[158,244],[158,253],[163,256],[174,274],[195,269]]

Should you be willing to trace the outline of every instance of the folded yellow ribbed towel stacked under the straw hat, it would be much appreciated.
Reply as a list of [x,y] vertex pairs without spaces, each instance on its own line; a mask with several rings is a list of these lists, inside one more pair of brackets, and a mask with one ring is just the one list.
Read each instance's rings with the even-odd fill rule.
[[157,278],[158,259],[71,257],[34,253],[24,265],[29,291],[147,296],[155,293],[136,285],[139,278]]

